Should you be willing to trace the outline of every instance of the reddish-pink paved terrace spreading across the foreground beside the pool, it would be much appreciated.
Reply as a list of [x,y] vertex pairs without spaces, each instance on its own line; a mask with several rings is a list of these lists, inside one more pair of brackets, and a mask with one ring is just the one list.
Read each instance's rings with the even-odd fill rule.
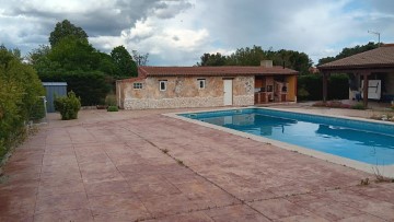
[[394,221],[393,183],[166,112],[49,116],[4,167],[0,221]]

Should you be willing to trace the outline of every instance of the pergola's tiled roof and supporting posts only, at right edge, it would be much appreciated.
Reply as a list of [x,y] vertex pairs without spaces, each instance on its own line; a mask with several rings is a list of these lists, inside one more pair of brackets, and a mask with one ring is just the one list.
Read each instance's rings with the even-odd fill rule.
[[317,69],[323,74],[323,102],[327,100],[327,79],[332,73],[354,73],[360,74],[363,79],[362,96],[363,105],[367,107],[368,77],[376,72],[394,74],[394,44],[385,44],[369,51],[317,66]]

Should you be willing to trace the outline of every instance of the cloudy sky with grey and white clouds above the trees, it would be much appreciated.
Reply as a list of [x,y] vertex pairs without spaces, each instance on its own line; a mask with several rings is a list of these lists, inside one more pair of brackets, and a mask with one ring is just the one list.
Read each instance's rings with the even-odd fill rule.
[[344,47],[394,43],[393,0],[0,0],[0,44],[26,54],[57,22],[82,27],[102,51],[124,45],[150,66],[192,66],[204,52],[292,49],[315,62]]

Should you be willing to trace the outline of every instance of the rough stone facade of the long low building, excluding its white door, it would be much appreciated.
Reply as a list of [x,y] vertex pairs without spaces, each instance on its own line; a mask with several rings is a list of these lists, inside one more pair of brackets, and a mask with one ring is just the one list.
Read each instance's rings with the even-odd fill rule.
[[[198,80],[205,80],[199,87]],[[254,105],[254,75],[234,77],[233,105]],[[166,81],[160,91],[159,82]],[[142,83],[142,89],[134,89]],[[125,109],[223,106],[223,77],[161,77],[117,82],[118,105]]]

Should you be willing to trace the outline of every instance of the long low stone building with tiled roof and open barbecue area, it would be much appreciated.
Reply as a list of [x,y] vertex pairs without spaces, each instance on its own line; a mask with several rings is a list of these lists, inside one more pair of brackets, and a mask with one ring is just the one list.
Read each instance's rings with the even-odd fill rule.
[[139,67],[118,80],[125,109],[250,106],[296,102],[298,72],[262,61],[259,67]]

